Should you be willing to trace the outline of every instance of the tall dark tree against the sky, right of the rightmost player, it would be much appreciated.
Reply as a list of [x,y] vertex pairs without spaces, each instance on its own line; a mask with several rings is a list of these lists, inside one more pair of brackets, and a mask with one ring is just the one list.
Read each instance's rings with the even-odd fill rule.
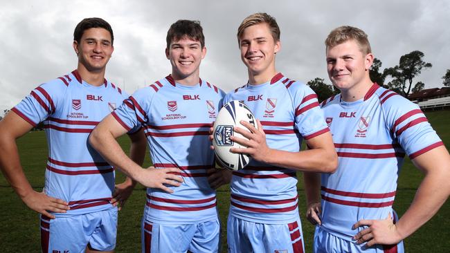
[[402,55],[399,60],[399,65],[393,68],[386,68],[384,70],[385,76],[393,77],[389,82],[389,88],[397,88],[400,95],[408,97],[413,86],[413,79],[422,73],[422,69],[431,68],[431,63],[424,62],[422,58],[424,53],[415,50],[406,55]]

